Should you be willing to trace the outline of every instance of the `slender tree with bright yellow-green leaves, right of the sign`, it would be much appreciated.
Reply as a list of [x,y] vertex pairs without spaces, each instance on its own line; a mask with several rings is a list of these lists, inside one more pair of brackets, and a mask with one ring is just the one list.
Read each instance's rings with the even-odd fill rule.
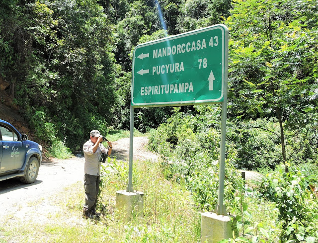
[[[307,15],[302,15],[304,7]],[[315,21],[310,0],[238,0],[225,21],[231,116],[276,117],[284,162],[284,129],[303,126],[311,121],[308,112],[317,111],[315,101],[307,99],[318,76]]]

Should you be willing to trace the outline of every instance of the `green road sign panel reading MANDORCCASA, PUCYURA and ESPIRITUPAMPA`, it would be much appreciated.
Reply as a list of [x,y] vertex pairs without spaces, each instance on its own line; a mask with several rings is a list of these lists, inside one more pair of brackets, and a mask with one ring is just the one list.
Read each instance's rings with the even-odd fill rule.
[[132,106],[222,102],[228,77],[225,25],[138,45],[133,56]]

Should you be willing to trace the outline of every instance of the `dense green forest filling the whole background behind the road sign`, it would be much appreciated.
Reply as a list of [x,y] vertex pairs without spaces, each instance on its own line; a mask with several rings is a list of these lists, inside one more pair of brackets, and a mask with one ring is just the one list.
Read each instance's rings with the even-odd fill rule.
[[[0,79],[38,139],[76,151],[92,129],[129,129],[137,44],[223,23],[235,142],[255,151],[251,131],[267,131],[286,162],[290,137],[317,152],[317,12],[315,0],[1,0]],[[190,115],[217,128],[217,109],[139,108],[135,127]]]

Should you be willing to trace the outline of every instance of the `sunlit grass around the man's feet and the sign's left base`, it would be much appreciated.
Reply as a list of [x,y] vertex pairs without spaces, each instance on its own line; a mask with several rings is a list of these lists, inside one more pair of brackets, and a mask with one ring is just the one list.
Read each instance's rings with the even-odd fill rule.
[[[84,189],[78,182],[43,201],[34,202],[28,217],[0,219],[0,243],[198,243],[200,214],[184,186],[164,179],[159,162],[134,162],[134,188],[145,193],[144,218],[131,222],[115,217],[116,190],[127,186],[125,162],[113,161],[102,169],[100,221],[82,218]],[[32,212],[31,212],[32,211]],[[14,222],[14,223],[12,223]]]

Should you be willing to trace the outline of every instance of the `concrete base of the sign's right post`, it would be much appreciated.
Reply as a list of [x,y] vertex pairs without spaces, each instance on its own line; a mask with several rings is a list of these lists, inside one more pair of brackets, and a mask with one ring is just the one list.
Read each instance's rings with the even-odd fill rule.
[[206,212],[201,214],[201,243],[217,243],[233,238],[232,216]]

